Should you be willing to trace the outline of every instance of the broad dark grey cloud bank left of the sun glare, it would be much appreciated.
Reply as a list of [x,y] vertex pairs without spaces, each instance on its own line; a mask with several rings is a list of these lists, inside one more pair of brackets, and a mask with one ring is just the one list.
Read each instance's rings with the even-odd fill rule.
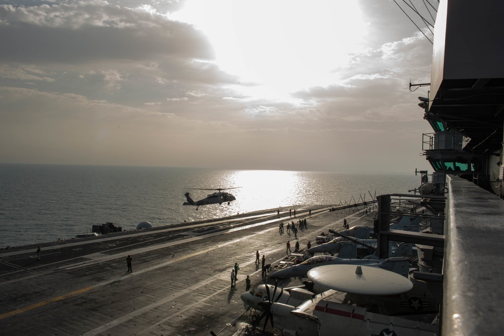
[[214,58],[207,38],[165,16],[111,6],[0,6],[4,62],[89,63],[107,59]]

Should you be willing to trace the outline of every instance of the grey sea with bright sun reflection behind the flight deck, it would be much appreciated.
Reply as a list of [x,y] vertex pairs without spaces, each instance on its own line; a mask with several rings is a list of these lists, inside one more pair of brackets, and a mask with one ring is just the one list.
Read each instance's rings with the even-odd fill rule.
[[[412,174],[242,171],[171,167],[0,164],[0,248],[69,239],[113,222],[134,230],[295,205],[336,205],[370,194],[407,193]],[[231,204],[184,206],[234,188]]]

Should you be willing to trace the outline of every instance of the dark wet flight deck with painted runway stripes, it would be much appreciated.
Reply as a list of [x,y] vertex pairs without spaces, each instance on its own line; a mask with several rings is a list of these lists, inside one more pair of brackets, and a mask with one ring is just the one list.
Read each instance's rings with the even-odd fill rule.
[[[118,233],[99,238],[0,251],[0,334],[2,335],[224,335],[261,334],[250,324],[240,294],[245,277],[252,289],[274,283],[261,275],[255,253],[266,263],[284,260],[285,245],[296,239],[279,234],[279,221],[307,218],[298,232],[301,248],[329,228],[372,225],[369,215],[330,212],[325,206],[254,212],[238,218]],[[133,258],[127,272],[125,258]],[[230,287],[234,263],[240,266]],[[301,284],[285,279],[284,287]],[[266,329],[269,334],[279,334]],[[268,333],[265,333],[268,334]]]

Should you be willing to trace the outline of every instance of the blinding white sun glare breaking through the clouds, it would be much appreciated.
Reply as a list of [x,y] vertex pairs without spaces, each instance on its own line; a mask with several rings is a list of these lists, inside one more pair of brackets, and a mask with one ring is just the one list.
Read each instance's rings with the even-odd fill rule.
[[366,29],[355,1],[189,0],[172,17],[208,36],[222,70],[278,93],[336,82]]

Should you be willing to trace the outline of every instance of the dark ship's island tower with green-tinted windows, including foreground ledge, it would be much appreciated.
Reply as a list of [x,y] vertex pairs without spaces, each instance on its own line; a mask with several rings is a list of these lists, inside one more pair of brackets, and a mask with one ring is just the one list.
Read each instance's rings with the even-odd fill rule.
[[[504,136],[504,2],[441,0],[430,90],[418,97],[433,133],[423,135],[421,203],[436,235],[398,238],[386,229],[391,197],[382,195],[375,231],[423,246],[427,282],[440,304],[443,335],[499,334],[504,329],[502,163]],[[417,91],[418,92],[418,91]],[[384,225],[385,223],[385,225]],[[423,245],[422,245],[423,244]]]

